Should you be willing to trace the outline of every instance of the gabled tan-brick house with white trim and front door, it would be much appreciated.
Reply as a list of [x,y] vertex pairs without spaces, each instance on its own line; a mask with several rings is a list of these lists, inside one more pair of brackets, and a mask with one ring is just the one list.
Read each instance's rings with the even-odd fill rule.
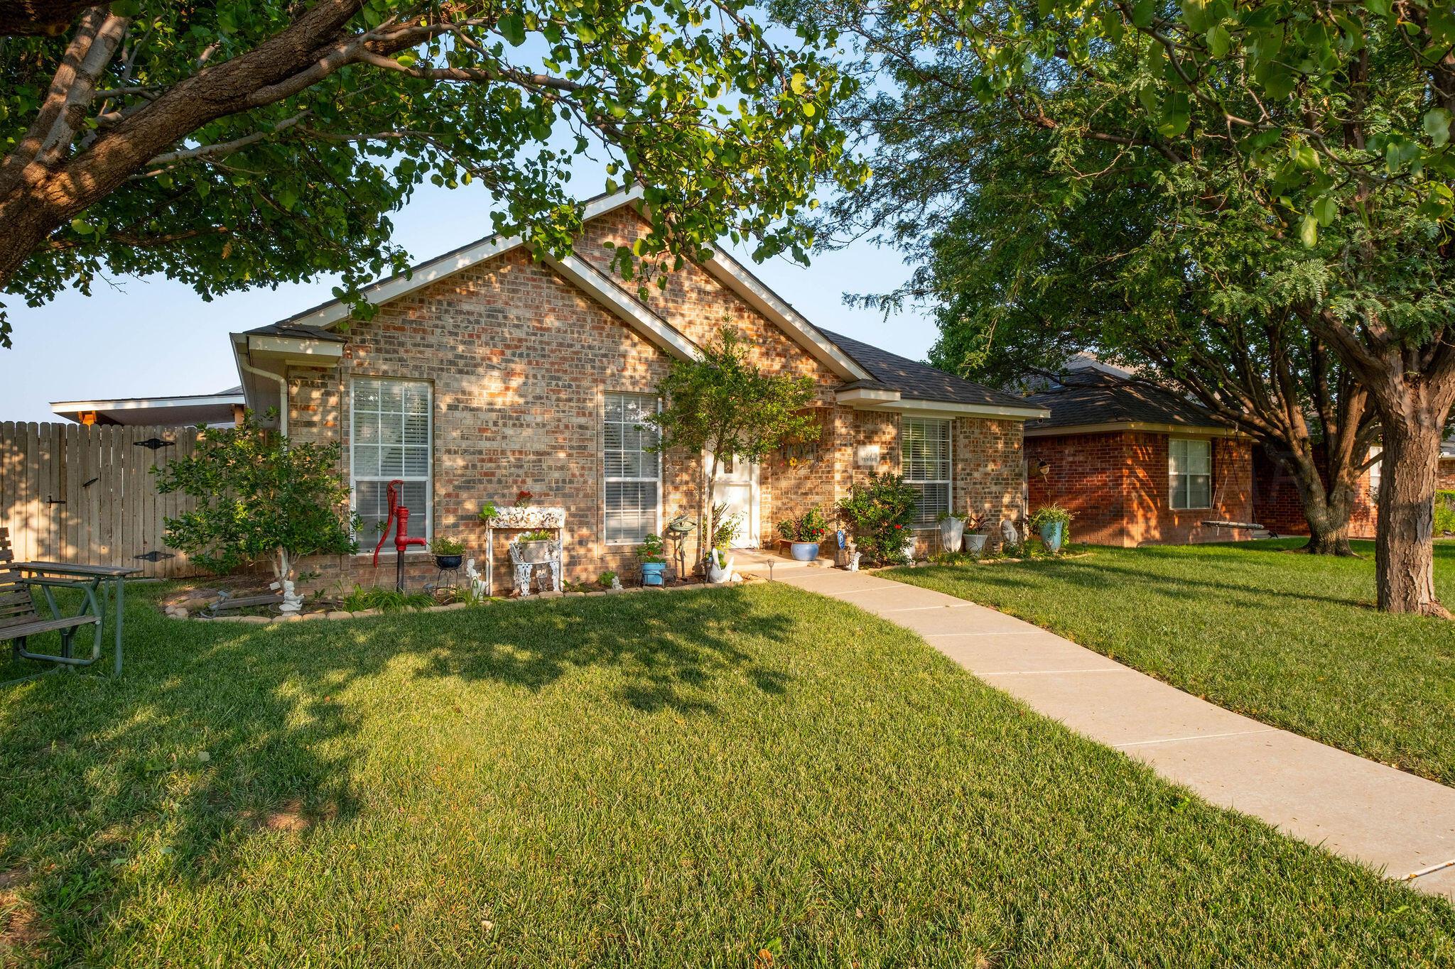
[[[943,510],[1023,514],[1021,426],[1039,405],[819,330],[722,250],[639,296],[610,266],[645,231],[639,205],[637,193],[591,202],[562,260],[490,237],[370,286],[371,320],[329,302],[233,334],[247,405],[279,408],[294,439],[343,445],[361,540],[386,516],[390,479],[404,482],[413,535],[471,555],[480,506],[528,490],[566,507],[567,578],[630,574],[643,535],[695,513],[703,461],[649,452],[637,421],[671,362],[730,325],[765,370],[812,378],[821,429],[761,465],[723,462],[739,545],[771,545],[774,523],[808,507],[831,513],[874,471],[915,482],[927,536]],[[324,584],[375,581],[364,554],[308,568]],[[412,568],[432,575],[426,554]]]

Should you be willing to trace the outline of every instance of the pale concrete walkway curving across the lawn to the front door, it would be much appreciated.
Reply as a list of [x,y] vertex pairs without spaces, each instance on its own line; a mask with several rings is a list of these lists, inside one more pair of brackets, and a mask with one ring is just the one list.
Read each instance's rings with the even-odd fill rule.
[[[781,559],[780,559],[781,561]],[[912,629],[986,683],[1212,803],[1406,879],[1455,859],[1455,789],[1231,713],[984,606],[864,572],[774,580]],[[1455,899],[1455,867],[1410,879]]]

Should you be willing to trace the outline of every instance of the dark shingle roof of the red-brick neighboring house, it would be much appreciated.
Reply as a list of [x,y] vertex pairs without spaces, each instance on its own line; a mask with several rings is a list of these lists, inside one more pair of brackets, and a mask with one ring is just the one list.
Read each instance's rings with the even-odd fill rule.
[[1059,381],[1061,386],[1056,389],[1026,398],[1027,402],[1051,411],[1051,417],[1026,421],[1026,430],[1090,424],[1227,427],[1205,407],[1135,378],[1081,370],[1062,375]]

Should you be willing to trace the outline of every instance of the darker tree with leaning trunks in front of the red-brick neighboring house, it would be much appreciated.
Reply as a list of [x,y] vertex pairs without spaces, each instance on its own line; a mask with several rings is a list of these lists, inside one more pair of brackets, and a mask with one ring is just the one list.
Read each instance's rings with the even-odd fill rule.
[[[927,138],[943,137],[934,131]],[[1160,227],[1179,222],[1176,196],[1110,177],[1075,193],[1037,144],[1048,135],[1029,135],[962,131],[979,142],[973,186],[928,241],[909,246],[920,266],[904,292],[879,302],[931,302],[941,331],[931,362],[965,376],[1011,384],[1090,350],[1195,397],[1286,468],[1305,549],[1350,555],[1378,429],[1368,392],[1307,328],[1314,301],[1296,279],[1283,280],[1277,305],[1240,298],[1245,288],[1225,283],[1267,272],[1256,253],[1171,244]],[[915,171],[934,177],[934,167]]]

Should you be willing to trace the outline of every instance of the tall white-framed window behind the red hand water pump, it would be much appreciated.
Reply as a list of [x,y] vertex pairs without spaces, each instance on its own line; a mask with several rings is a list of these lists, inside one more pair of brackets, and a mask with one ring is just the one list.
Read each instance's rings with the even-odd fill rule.
[[429,384],[358,378],[349,395],[349,468],[359,545],[372,546],[388,520],[388,482],[400,478],[400,504],[415,535],[429,536]]

